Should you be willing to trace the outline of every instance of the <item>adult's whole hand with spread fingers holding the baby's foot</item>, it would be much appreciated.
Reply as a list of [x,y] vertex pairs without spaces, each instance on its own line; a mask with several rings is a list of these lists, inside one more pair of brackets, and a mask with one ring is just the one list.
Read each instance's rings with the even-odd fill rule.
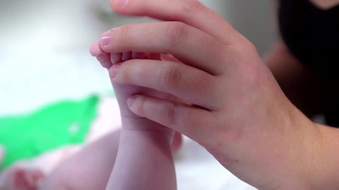
[[133,113],[191,137],[259,189],[307,188],[319,131],[288,101],[246,38],[195,0],[112,1],[112,8],[164,22],[110,30],[100,40],[103,51],[170,53],[181,62],[134,59],[109,68],[118,84],[187,102],[136,94],[128,100]]

